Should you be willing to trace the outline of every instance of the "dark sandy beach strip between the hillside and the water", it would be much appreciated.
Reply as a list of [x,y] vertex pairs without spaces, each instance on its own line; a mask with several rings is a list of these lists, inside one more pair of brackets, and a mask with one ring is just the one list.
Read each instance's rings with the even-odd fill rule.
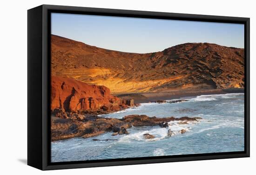
[[132,94],[113,94],[119,98],[130,100],[134,99],[135,103],[148,103],[156,100],[173,100],[182,97],[191,97],[199,95],[210,94],[231,94],[244,93],[242,88],[233,89],[205,89],[205,90],[181,90],[173,92],[159,92],[159,93],[132,93]]

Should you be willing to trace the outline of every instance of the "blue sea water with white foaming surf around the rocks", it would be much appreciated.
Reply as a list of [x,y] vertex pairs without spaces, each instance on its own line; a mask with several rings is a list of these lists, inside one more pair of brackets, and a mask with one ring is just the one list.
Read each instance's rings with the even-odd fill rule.
[[[145,156],[169,156],[244,150],[244,94],[213,94],[186,97],[181,103],[143,103],[101,117],[122,118],[131,114],[150,117],[201,117],[198,122],[169,122],[175,136],[159,126],[132,127],[130,134],[111,136],[111,132],[90,138],[71,138],[51,144],[52,162],[115,159]],[[186,129],[186,133],[179,131]],[[144,139],[149,133],[154,139]],[[117,139],[93,141],[92,139]]]

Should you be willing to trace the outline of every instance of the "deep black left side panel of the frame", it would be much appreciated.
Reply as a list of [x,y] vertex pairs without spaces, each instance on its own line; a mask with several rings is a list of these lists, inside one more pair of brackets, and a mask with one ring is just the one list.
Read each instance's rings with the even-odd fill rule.
[[42,6],[27,11],[27,164],[42,169]]

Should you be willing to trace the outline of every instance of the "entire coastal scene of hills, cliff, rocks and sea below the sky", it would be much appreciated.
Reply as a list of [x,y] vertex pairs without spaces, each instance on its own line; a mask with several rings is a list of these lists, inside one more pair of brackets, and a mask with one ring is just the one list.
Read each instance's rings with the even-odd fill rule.
[[51,162],[244,150],[244,49],[107,50],[51,35]]

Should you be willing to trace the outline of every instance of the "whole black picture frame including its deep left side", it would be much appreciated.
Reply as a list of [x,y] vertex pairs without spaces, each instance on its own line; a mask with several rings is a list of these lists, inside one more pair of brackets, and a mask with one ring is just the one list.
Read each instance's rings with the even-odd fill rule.
[[[244,24],[244,151],[110,160],[50,162],[51,12]],[[27,164],[41,170],[249,157],[249,18],[41,5],[27,11]]]

